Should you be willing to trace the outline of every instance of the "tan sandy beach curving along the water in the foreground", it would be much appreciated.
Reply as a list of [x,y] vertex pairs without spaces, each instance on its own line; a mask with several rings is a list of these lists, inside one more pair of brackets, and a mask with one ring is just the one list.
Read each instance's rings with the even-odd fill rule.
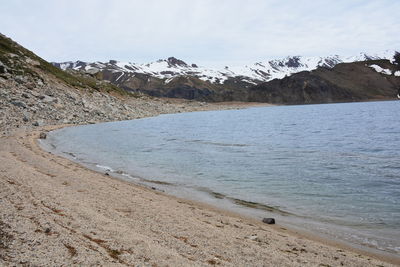
[[83,168],[40,148],[59,127],[0,138],[2,266],[400,264]]

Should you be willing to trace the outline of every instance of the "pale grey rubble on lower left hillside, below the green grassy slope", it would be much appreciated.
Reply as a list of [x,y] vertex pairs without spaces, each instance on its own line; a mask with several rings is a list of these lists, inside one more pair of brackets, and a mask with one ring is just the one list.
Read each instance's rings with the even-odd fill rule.
[[52,80],[43,82],[29,76],[0,77],[0,130],[3,133],[17,128],[132,120],[164,113],[233,109],[247,105],[255,104],[122,96],[71,88]]

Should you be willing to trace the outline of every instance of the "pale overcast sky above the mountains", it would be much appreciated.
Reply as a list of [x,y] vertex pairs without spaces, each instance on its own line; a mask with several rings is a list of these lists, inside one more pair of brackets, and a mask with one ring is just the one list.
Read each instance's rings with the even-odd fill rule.
[[400,50],[400,0],[0,0],[0,32],[49,61],[222,66]]

